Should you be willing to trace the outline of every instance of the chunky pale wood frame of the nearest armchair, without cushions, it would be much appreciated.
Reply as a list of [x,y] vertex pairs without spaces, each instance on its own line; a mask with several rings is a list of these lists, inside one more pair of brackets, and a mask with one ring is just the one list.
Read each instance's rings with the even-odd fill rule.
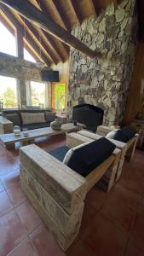
[[21,187],[64,251],[78,235],[86,193],[105,173],[116,172],[119,153],[115,149],[84,178],[36,145],[20,148]]

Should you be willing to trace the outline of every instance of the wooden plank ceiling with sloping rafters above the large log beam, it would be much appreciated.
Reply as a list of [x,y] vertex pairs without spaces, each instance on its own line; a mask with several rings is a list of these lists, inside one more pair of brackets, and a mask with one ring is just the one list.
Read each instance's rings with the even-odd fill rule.
[[[143,0],[140,1],[143,3]],[[107,4],[113,2],[117,5],[119,0],[29,0],[29,2],[67,32],[71,32],[72,27],[81,24],[86,17],[98,15]],[[68,60],[69,47],[66,44],[30,23],[3,3],[0,3],[0,20],[13,34],[15,30],[21,34],[26,49],[37,61],[43,61],[51,66]]]

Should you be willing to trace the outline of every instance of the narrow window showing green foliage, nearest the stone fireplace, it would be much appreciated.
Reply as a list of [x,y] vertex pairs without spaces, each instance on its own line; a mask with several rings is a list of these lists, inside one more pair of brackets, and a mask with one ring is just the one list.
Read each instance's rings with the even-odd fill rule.
[[66,84],[55,83],[53,87],[53,108],[66,108]]

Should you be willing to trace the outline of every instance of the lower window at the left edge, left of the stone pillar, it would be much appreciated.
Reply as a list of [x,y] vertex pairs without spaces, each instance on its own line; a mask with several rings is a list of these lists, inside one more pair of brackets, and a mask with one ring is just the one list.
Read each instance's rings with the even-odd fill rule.
[[0,101],[3,108],[17,108],[16,79],[0,76]]

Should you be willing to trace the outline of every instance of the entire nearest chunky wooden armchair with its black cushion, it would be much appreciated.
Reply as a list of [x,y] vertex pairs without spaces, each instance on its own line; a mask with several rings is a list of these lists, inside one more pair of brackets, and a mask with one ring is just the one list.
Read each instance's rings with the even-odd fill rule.
[[20,183],[38,215],[66,251],[78,235],[87,192],[107,172],[115,175],[120,151],[106,138],[66,150],[62,162],[54,157],[60,150],[48,154],[36,145],[21,147]]

